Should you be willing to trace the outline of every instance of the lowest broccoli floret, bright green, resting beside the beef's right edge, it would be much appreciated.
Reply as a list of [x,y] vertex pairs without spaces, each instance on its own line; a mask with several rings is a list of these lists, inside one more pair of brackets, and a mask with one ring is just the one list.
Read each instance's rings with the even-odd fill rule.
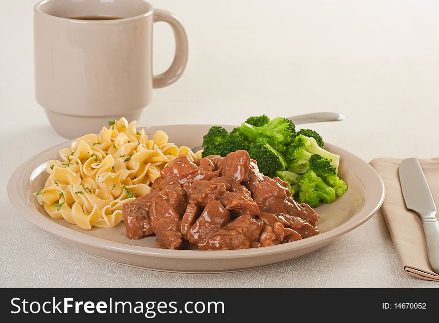
[[319,201],[334,202],[335,191],[313,171],[307,171],[299,180],[299,201],[316,208],[319,206]]

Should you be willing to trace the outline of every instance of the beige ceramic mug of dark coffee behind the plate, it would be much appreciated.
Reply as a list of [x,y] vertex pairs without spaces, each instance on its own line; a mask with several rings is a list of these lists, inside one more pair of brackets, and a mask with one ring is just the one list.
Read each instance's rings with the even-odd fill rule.
[[[175,35],[175,58],[152,73],[153,24]],[[188,60],[185,29],[143,0],[43,0],[34,7],[35,97],[57,133],[75,138],[108,120],[138,119],[152,89],[177,81]]]

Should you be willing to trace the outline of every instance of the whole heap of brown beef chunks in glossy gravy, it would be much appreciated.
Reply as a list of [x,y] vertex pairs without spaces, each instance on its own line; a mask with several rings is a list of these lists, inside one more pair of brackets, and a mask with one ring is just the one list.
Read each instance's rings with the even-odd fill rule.
[[244,150],[177,157],[122,213],[130,239],[155,233],[169,249],[257,248],[320,233],[319,215],[295,202],[286,182],[260,173]]

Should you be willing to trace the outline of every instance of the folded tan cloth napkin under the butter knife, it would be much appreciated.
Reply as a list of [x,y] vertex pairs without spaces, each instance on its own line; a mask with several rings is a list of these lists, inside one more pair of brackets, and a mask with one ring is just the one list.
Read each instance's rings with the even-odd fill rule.
[[[404,270],[419,279],[439,281],[439,275],[430,267],[421,218],[406,209],[398,174],[401,161],[379,158],[370,162],[386,187],[386,198],[381,210]],[[439,158],[421,159],[420,164],[439,207]]]

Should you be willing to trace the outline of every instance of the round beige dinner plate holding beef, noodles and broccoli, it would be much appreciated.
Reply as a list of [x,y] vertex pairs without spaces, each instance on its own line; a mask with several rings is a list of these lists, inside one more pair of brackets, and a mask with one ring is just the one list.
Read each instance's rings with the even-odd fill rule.
[[[196,147],[212,125],[162,125],[144,127],[146,132],[163,130],[170,142]],[[231,129],[232,126],[225,126]],[[168,250],[159,248],[156,237],[133,241],[125,233],[123,222],[112,228],[93,227],[84,230],[63,219],[53,219],[36,201],[48,177],[45,165],[57,159],[58,151],[68,147],[64,142],[29,158],[9,179],[7,192],[14,207],[30,222],[61,240],[97,257],[120,264],[163,271],[224,272],[247,270],[288,261],[323,247],[339,236],[363,224],[374,215],[384,200],[384,185],[379,175],[366,162],[337,146],[326,149],[340,155],[340,177],[348,192],[332,204],[321,204],[317,227],[323,233],[303,240],[275,246],[225,251]],[[347,249],[349,250],[349,249]],[[349,252],[349,251],[348,251]]]

